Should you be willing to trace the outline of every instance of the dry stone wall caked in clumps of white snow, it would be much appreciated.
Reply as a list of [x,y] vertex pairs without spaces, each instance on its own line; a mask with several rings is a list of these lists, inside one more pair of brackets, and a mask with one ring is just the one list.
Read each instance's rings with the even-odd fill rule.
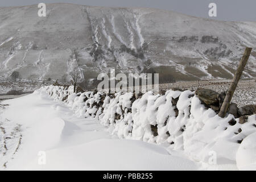
[[212,152],[216,152],[217,159],[241,161],[245,156],[237,156],[240,143],[256,132],[255,114],[242,124],[232,114],[220,118],[190,90],[140,95],[73,93],[73,86],[51,85],[41,89],[53,100],[65,102],[77,117],[99,119],[112,135],[164,144],[173,150],[183,150],[199,162],[208,162]]

